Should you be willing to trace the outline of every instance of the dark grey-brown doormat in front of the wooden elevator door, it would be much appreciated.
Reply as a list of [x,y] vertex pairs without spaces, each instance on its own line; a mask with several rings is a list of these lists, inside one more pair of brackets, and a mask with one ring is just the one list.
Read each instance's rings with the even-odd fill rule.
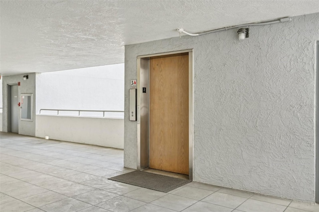
[[173,178],[143,171],[126,173],[124,175],[109,178],[109,180],[152,189],[159,192],[169,192],[191,182],[191,180]]

